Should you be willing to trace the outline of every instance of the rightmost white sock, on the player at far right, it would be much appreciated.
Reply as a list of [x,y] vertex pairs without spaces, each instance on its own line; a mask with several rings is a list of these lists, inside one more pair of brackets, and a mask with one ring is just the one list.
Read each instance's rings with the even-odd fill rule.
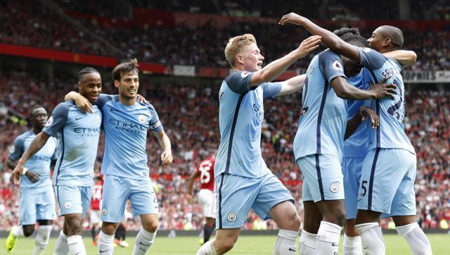
[[395,227],[395,229],[408,242],[413,255],[432,254],[430,242],[418,223]]

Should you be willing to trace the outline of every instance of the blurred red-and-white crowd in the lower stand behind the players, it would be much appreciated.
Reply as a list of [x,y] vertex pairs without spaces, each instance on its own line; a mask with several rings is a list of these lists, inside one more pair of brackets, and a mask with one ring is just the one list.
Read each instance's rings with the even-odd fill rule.
[[[214,82],[212,82],[213,84]],[[34,104],[44,105],[49,113],[63,100],[64,94],[76,90],[72,77],[42,77],[20,72],[0,75],[0,230],[8,230],[18,220],[18,187],[10,182],[6,167],[8,148],[13,139],[27,130],[23,121],[6,114],[9,108],[24,116]],[[158,111],[172,142],[174,162],[160,164],[160,147],[153,135],[148,136],[148,166],[160,203],[160,230],[197,230],[202,223],[198,200],[188,203],[186,181],[200,161],[214,153],[219,143],[219,85],[197,85],[186,82],[150,82],[141,77],[140,94]],[[51,93],[49,93],[51,91]],[[108,78],[103,92],[115,94]],[[262,126],[262,153],[267,166],[290,189],[302,216],[302,174],[293,158],[293,138],[300,116],[301,94],[266,101]],[[416,179],[418,221],[423,228],[439,228],[450,220],[450,92],[408,91],[406,93],[406,132],[418,156]],[[103,139],[99,144],[95,170],[101,169]],[[198,191],[198,182],[195,183]],[[130,209],[131,210],[131,209]],[[89,214],[88,214],[89,215]],[[54,228],[60,228],[56,220]],[[89,226],[89,218],[85,220]],[[139,218],[127,213],[129,230],[140,226]],[[390,222],[383,221],[383,228]],[[274,229],[276,224],[262,221],[250,213],[246,229]]]

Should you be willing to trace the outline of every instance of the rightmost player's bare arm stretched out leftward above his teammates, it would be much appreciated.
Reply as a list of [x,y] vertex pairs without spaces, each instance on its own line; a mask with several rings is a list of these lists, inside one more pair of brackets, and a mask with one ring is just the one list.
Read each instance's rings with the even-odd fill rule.
[[307,18],[304,18],[296,13],[289,13],[284,15],[278,23],[280,25],[285,25],[287,23],[301,25],[312,35],[320,35],[321,42],[325,44],[325,46],[327,46],[330,50],[346,56],[347,58],[356,61],[356,63],[359,63],[359,52],[355,46],[344,42],[337,35],[333,34],[333,32],[319,27]]

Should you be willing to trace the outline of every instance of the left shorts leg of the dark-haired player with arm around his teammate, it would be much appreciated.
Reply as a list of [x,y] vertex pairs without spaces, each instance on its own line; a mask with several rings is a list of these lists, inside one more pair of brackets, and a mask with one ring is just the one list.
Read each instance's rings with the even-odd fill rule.
[[124,219],[125,204],[129,196],[129,179],[105,175],[101,220],[120,223]]

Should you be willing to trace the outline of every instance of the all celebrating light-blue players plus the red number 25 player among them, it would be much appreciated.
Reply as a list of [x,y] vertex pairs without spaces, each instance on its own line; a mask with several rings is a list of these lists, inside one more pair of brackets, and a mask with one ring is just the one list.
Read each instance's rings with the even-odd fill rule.
[[[215,159],[200,163],[188,181],[189,194],[195,178],[200,176],[203,183],[199,200],[206,223],[197,254],[232,249],[250,209],[278,224],[273,254],[295,254],[301,225],[300,254],[338,254],[342,227],[345,254],[385,254],[379,225],[385,217],[392,217],[413,254],[432,254],[416,223],[416,152],[401,123],[405,108],[400,72],[416,61],[412,51],[401,50],[401,30],[381,26],[366,40],[357,29],[333,33],[295,13],[284,15],[279,23],[301,25],[313,36],[264,68],[252,35],[233,37],[226,45],[233,73],[218,95],[219,149]],[[314,56],[306,74],[271,82],[319,43],[329,49]],[[36,222],[33,254],[44,251],[56,218],[54,192],[64,228],[53,254],[86,254],[81,227],[92,197],[103,128],[105,180],[98,253],[113,254],[114,234],[129,200],[142,223],[133,254],[146,254],[158,228],[158,201],[147,166],[148,130],[158,138],[163,164],[172,163],[172,151],[155,108],[137,94],[137,67],[131,60],[114,68],[118,95],[101,94],[101,75],[84,68],[79,72],[79,92],[68,93],[48,120],[43,107],[31,109],[33,128],[15,139],[8,158],[13,180],[20,179],[20,218],[6,241],[7,251],[18,237],[32,235]],[[292,195],[266,166],[260,148],[264,99],[299,91],[302,114],[294,156],[304,176],[303,224]],[[56,158],[52,189],[50,164]],[[214,224],[217,233],[209,240]]]

